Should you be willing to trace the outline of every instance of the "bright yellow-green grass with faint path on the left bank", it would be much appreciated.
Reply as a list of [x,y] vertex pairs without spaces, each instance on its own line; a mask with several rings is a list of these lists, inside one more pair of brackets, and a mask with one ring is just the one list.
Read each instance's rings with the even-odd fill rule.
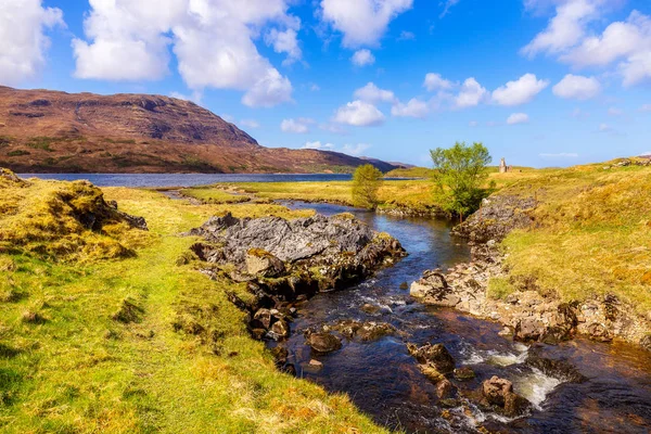
[[[212,281],[192,261],[175,265],[195,242],[176,234],[212,215],[310,212],[104,192],[120,209],[148,219],[150,233],[136,256],[79,264],[48,260],[21,245],[0,252],[0,294],[13,294],[0,298],[0,431],[384,432],[346,396],[275,368],[227,299],[227,291],[244,288]],[[129,234],[115,237],[127,243]],[[188,321],[206,333],[183,327]]]

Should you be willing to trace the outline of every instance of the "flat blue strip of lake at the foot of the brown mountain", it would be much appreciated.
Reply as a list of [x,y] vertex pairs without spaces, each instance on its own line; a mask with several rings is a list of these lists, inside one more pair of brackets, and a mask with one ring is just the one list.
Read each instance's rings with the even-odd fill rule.
[[[303,182],[349,181],[350,174],[20,174],[21,178],[36,177],[76,181],[84,179],[98,187],[193,187],[216,182]],[[409,178],[385,178],[400,180]]]

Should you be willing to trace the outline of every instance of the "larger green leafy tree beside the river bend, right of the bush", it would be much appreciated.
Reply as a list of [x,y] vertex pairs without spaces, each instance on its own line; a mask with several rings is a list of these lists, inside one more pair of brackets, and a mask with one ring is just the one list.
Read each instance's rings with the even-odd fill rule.
[[482,200],[489,193],[482,184],[488,177],[486,166],[493,158],[482,143],[457,142],[452,148],[437,148],[430,151],[434,163],[434,182],[436,199],[443,209],[463,216],[480,207]]

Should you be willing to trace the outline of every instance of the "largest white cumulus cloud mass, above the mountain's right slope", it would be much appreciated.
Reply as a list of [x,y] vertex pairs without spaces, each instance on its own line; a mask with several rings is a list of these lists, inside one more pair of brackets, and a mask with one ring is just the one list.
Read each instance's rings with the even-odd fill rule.
[[[292,85],[259,54],[259,28],[288,59],[301,55],[295,33],[299,21],[286,13],[286,0],[90,0],[87,40],[74,39],[75,75],[106,80],[151,80],[168,74],[169,49],[192,90],[244,91],[250,106],[291,101]],[[275,30],[276,29],[276,30]]]

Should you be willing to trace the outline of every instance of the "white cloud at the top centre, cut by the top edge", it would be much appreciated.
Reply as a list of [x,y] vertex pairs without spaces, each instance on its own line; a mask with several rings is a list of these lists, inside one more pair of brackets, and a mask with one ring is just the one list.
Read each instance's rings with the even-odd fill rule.
[[388,23],[411,9],[413,0],[322,0],[324,22],[344,34],[343,46],[376,46]]

